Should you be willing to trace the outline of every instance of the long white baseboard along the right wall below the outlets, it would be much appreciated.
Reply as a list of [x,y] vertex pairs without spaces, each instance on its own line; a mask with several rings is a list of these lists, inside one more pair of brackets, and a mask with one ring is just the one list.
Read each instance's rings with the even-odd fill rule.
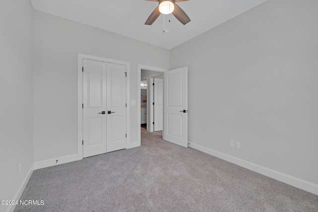
[[223,160],[229,161],[231,163],[234,163],[236,165],[239,165],[241,167],[244,167],[246,169],[249,169],[251,171],[257,172],[259,174],[265,175],[267,177],[273,178],[275,180],[281,181],[283,183],[286,183],[288,185],[294,186],[296,188],[302,189],[304,191],[313,193],[315,195],[318,195],[318,185],[284,174],[282,172],[278,172],[242,159],[239,159],[237,157],[233,157],[231,155],[228,154],[224,154],[222,152],[213,150],[213,149],[209,149],[207,147],[195,144],[195,143],[189,143],[188,145],[189,147],[199,150],[201,152],[205,152],[209,155],[213,155],[215,157],[221,158]]

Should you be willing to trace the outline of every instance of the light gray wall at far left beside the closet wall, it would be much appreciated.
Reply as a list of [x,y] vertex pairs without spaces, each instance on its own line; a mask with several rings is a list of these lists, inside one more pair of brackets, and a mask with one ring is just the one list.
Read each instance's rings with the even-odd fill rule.
[[[33,164],[33,8],[0,1],[0,200],[12,200]],[[19,174],[19,162],[22,162]],[[0,211],[6,206],[0,205]]]

